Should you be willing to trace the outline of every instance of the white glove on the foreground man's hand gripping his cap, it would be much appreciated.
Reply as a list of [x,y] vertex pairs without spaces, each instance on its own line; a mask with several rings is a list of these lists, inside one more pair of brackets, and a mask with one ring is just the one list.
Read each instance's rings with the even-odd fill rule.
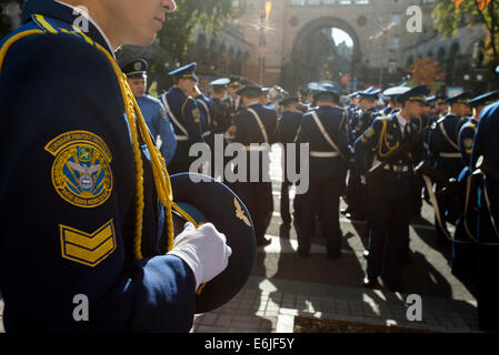
[[200,284],[214,278],[227,267],[232,250],[227,245],[226,235],[219,233],[213,224],[206,223],[196,229],[188,222],[168,254],[180,257],[190,266],[198,290]]

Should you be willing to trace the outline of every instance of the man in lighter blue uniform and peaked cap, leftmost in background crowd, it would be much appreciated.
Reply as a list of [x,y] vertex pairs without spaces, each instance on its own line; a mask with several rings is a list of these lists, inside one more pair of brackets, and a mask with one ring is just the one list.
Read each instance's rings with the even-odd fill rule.
[[143,59],[136,59],[122,65],[121,70],[127,75],[128,84],[136,97],[148,129],[168,166],[177,151],[177,140],[173,125],[163,104],[146,93],[148,62]]

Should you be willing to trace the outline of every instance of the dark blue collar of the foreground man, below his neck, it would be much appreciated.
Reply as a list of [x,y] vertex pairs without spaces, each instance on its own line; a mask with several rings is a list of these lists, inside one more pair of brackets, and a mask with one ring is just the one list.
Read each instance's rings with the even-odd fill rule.
[[[22,23],[31,20],[31,16],[34,13],[43,14],[49,18],[58,19],[66,23],[73,23],[77,18],[81,16],[80,12],[73,14],[73,7],[61,3],[54,0],[26,0],[22,10]],[[89,32],[86,33],[93,41],[108,49],[108,51],[114,55],[109,39],[103,31],[89,16]]]

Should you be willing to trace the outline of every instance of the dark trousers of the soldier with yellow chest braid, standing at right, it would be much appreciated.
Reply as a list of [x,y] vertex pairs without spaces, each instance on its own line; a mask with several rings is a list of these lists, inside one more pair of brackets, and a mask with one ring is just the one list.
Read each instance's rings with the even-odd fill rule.
[[376,280],[383,273],[390,286],[399,287],[409,239],[410,197],[387,197],[375,189],[370,190],[369,197],[372,217],[367,274],[369,278]]

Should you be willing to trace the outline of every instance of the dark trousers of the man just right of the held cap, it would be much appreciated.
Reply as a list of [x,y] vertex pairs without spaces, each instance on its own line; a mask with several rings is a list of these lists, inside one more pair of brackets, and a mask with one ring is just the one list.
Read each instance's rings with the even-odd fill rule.
[[231,189],[247,206],[255,226],[257,243],[265,239],[273,212],[271,182],[236,182]]

